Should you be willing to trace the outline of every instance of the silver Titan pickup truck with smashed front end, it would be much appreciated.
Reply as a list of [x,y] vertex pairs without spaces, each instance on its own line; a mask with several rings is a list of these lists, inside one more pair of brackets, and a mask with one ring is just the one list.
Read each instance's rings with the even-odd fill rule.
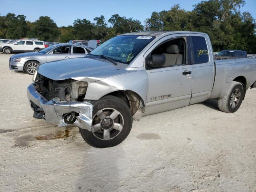
[[84,58],[41,64],[28,86],[34,118],[78,126],[88,144],[120,144],[132,120],[208,99],[238,110],[256,87],[256,60],[214,61],[199,32],[135,32],[116,36]]

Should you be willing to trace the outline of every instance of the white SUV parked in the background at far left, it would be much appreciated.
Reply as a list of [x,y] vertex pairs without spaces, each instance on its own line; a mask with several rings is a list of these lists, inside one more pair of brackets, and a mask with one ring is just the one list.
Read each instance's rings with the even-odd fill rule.
[[0,44],[0,51],[5,54],[12,52],[38,52],[44,48],[44,42],[38,40],[18,40],[14,44]]

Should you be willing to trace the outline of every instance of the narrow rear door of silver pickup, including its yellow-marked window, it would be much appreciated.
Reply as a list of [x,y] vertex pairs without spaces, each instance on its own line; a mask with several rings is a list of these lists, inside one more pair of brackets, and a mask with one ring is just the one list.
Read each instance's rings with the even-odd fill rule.
[[190,104],[203,102],[211,93],[214,82],[214,60],[208,36],[191,34],[193,64],[193,85]]

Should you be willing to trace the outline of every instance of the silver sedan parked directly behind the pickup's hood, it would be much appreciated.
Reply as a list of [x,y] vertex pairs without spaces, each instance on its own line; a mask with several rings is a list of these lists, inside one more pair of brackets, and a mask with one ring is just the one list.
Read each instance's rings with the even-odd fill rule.
[[92,49],[73,44],[54,44],[39,52],[20,53],[10,57],[10,70],[25,71],[33,75],[39,64],[67,58],[86,56]]

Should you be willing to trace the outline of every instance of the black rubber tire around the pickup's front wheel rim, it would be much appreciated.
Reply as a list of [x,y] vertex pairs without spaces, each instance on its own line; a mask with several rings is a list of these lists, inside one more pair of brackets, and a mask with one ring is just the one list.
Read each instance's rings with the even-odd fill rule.
[[[128,134],[130,133],[130,130],[132,128],[132,114],[131,114],[130,108],[127,106],[127,104],[124,101],[122,101],[120,98],[115,97],[115,96],[104,96],[100,100],[93,101],[92,104],[94,105],[93,112],[92,112],[92,116],[93,116],[92,125],[100,124],[100,130],[95,131],[93,133],[93,130],[88,131],[88,130],[79,128],[82,138],[88,144],[90,144],[91,146],[94,146],[96,148],[113,147],[113,146],[120,144],[123,140],[125,140],[125,138],[128,136]],[[111,108],[111,109],[114,109],[114,111],[120,112],[120,114],[116,118],[114,118],[114,122],[116,122],[117,120],[123,119],[122,130],[121,131],[117,131],[116,129],[110,130],[110,137],[109,137],[110,139],[109,140],[103,140],[102,138],[101,139],[98,138],[100,136],[103,136],[104,130],[102,128],[103,120],[100,120],[100,118],[97,115],[97,112],[102,111],[102,109],[106,110],[106,108]],[[106,114],[107,112],[108,112],[108,110],[104,111],[104,114]],[[110,114],[111,114],[111,112],[110,112]],[[108,118],[108,116],[110,116],[110,114],[106,114],[106,118]],[[99,123],[99,121],[100,121],[100,123]],[[111,138],[111,133],[114,134],[113,138]],[[115,134],[116,134],[116,136],[115,136]]]

